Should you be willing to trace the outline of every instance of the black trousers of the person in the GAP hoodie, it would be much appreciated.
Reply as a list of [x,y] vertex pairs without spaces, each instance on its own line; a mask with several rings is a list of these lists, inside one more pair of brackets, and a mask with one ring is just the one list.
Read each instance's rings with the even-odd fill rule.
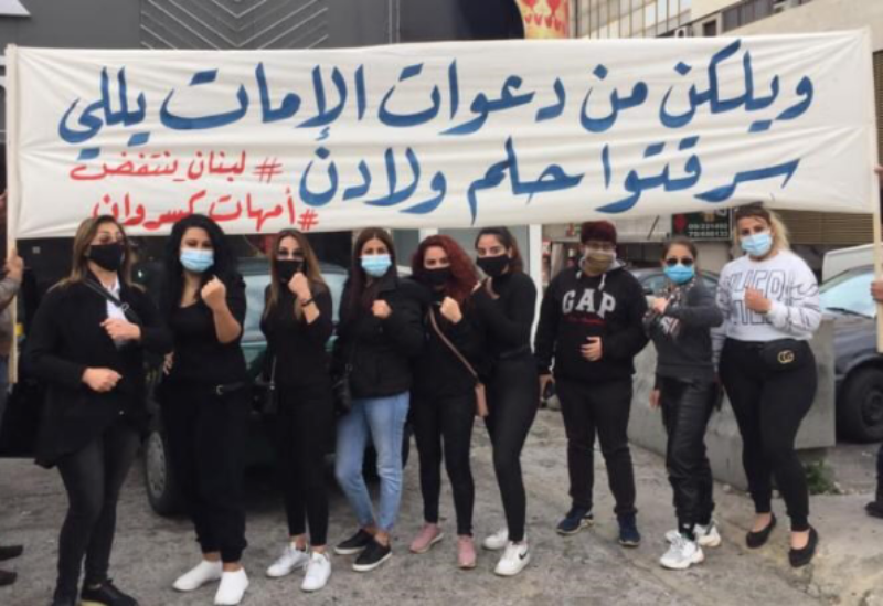
[[628,447],[631,412],[631,379],[586,383],[558,379],[555,382],[564,429],[567,434],[567,470],[574,507],[592,510],[595,483],[595,433],[607,465],[610,492],[617,517],[637,513],[635,470]]

